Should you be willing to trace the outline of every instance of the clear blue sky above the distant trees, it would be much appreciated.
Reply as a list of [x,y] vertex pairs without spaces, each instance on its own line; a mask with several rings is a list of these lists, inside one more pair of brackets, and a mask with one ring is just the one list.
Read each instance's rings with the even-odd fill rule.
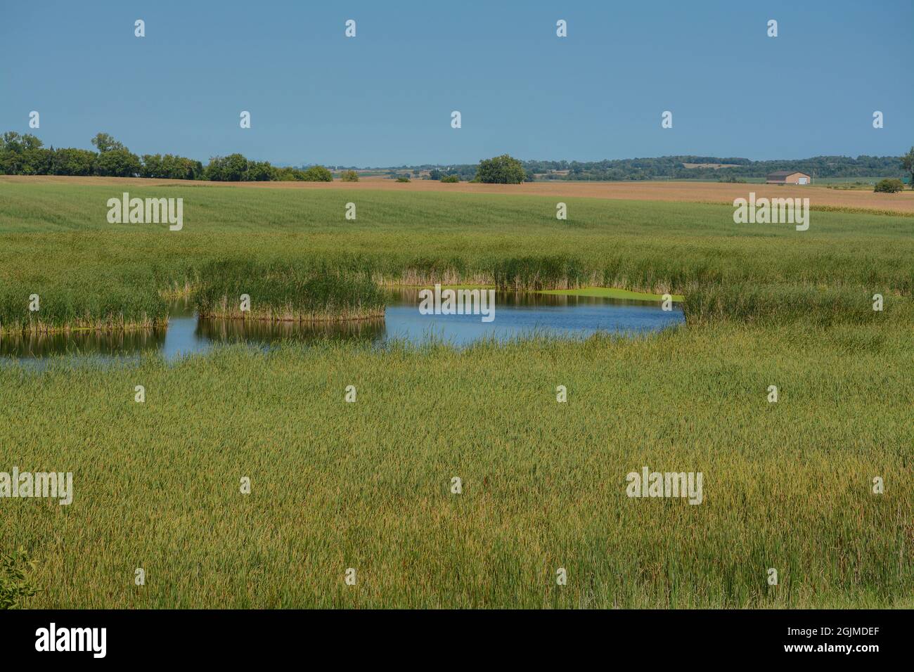
[[104,131],[137,154],[280,165],[899,155],[912,27],[911,0],[23,0],[0,21],[0,130],[37,110],[46,145]]

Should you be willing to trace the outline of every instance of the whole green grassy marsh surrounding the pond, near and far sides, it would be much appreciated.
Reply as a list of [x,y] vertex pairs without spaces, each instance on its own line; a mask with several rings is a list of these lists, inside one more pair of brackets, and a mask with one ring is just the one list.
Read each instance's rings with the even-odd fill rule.
[[[0,499],[0,552],[37,563],[25,606],[914,606],[914,220],[813,212],[797,232],[699,204],[565,199],[558,221],[548,197],[129,190],[184,197],[184,229],[108,224],[117,187],[0,184],[0,322],[27,324],[39,293],[56,325],[139,323],[164,291],[217,287],[214,268],[238,291],[227,269],[247,260],[683,294],[686,324],[0,366],[0,471],[74,475],[69,506]],[[626,496],[645,465],[702,472],[704,501]]]

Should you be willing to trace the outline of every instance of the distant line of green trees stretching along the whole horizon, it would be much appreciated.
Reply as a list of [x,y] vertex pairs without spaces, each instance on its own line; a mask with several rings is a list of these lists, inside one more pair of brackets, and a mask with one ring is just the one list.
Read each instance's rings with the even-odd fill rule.
[[[135,155],[108,133],[92,138],[98,151],[72,147],[46,148],[34,135],[4,133],[0,138],[0,175],[64,175],[160,177],[166,179],[214,180],[218,182],[305,181],[329,182],[332,174],[322,165],[306,168],[279,167],[268,161],[253,161],[240,154],[213,156],[207,165],[178,155]],[[659,180],[708,179],[739,182],[764,177],[776,170],[798,170],[816,177],[914,176],[914,148],[899,156],[813,156],[808,159],[751,161],[741,157],[659,156],[603,161],[518,161],[508,156],[484,159],[478,165],[401,165],[386,170],[388,176],[430,179],[454,176],[461,181],[508,182],[533,180]],[[696,165],[696,167],[685,167]],[[727,165],[715,168],[711,165]],[[337,169],[344,166],[335,166]],[[345,166],[352,170],[353,166]],[[348,175],[348,174],[347,174]],[[351,176],[350,176],[351,179]]]

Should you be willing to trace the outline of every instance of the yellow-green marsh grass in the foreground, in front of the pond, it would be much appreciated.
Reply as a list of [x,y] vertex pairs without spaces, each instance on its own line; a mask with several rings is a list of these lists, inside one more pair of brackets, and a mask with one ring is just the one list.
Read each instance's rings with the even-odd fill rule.
[[[75,495],[5,500],[0,539],[35,607],[911,607],[912,345],[708,325],[3,367],[5,467]],[[626,496],[644,465],[702,472],[703,503]]]

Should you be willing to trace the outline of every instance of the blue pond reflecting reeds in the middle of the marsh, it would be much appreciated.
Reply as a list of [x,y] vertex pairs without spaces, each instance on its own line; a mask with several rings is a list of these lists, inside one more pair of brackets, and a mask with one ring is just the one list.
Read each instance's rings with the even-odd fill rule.
[[492,322],[484,322],[480,315],[422,315],[419,307],[418,289],[399,288],[388,291],[383,319],[299,324],[200,319],[191,301],[178,301],[169,309],[166,329],[0,336],[0,356],[7,360],[51,355],[110,358],[159,351],[173,359],[205,352],[215,343],[269,347],[285,340],[313,342],[326,337],[378,345],[391,339],[413,344],[438,339],[461,347],[480,338],[505,340],[531,333],[571,338],[597,332],[637,334],[684,322],[679,304],[664,311],[654,302],[541,293],[496,292]]

